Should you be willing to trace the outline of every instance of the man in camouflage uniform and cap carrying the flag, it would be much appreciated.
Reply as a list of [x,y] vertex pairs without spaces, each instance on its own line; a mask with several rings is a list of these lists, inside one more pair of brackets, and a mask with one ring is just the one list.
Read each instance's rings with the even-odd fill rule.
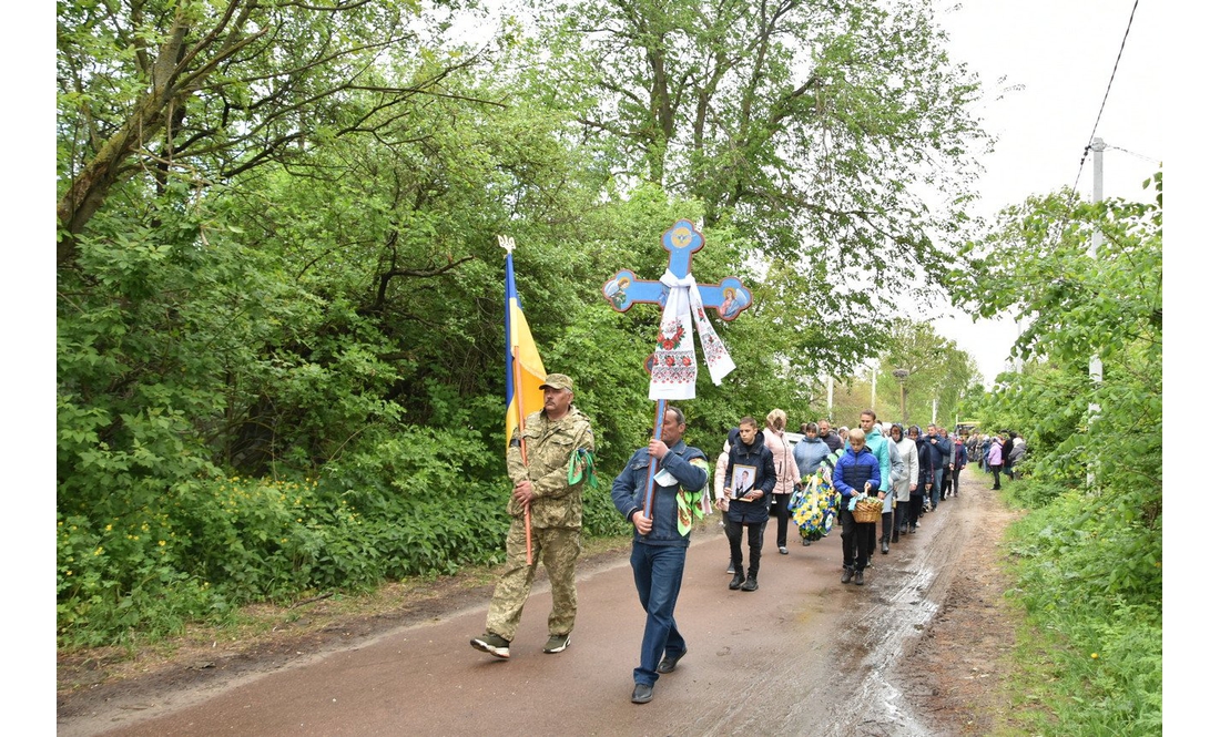
[[[551,597],[550,618],[547,620],[550,640],[543,652],[560,653],[566,649],[576,622],[581,488],[587,478],[582,471],[586,464],[592,463],[581,450],[592,453],[593,428],[589,418],[572,407],[575,390],[570,376],[548,374],[542,390],[543,409],[527,417],[523,431],[521,428],[514,430],[509,442],[509,478],[514,488],[508,508],[512,517],[505,542],[508,565],[492,596],[487,631],[470,641],[475,649],[497,658],[509,657],[509,643],[521,624],[521,609],[529,597],[539,559],[550,579]],[[528,467],[521,458],[522,437]],[[570,481],[572,476],[575,481]],[[532,564],[526,564],[526,503],[529,504]]]

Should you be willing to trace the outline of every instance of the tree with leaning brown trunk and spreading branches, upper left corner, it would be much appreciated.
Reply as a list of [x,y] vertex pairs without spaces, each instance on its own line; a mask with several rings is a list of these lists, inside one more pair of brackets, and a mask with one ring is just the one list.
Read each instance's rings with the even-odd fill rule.
[[468,63],[371,84],[388,50],[421,46],[417,12],[392,0],[59,2],[57,261],[74,259],[116,186],[133,200],[171,180],[207,186],[299,156],[321,135],[376,133],[328,122],[351,94],[373,93],[375,110],[393,111]]

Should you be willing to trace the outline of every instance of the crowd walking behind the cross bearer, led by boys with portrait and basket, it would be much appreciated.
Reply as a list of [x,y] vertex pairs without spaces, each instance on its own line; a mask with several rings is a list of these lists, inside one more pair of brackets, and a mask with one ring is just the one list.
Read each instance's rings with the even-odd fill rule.
[[[880,423],[871,409],[860,413],[854,429],[836,431],[826,419],[805,423],[795,446],[786,442],[786,428],[787,414],[780,409],[767,414],[760,434],[754,418],[743,418],[728,432],[716,464],[712,490],[730,543],[730,588],[758,588],[764,530],[771,517],[781,555],[788,554],[789,519],[797,523],[804,546],[837,526],[843,548],[841,580],[863,586],[878,548],[888,554],[891,545],[919,532],[924,515],[960,493],[966,464],[991,470],[992,488],[999,488],[1000,475],[1015,478],[1025,453],[1025,441],[1016,432],[954,435],[935,423],[926,429],[904,428]],[[742,465],[750,470],[737,471]],[[742,482],[743,475],[748,482]],[[743,497],[747,488],[762,493]],[[759,499],[762,504],[755,503]],[[741,549],[743,529],[748,560]]]

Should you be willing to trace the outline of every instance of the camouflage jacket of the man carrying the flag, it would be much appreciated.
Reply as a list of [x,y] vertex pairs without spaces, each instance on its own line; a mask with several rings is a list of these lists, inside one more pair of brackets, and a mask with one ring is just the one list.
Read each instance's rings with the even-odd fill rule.
[[[533,484],[533,501],[529,503],[532,526],[580,529],[581,487],[584,478],[569,484],[567,465],[577,448],[593,451],[589,418],[573,406],[561,419],[551,421],[543,409],[526,418],[523,435],[529,467],[521,463],[520,428],[512,431],[506,459],[509,480],[514,486],[526,478]],[[508,509],[512,517],[525,514],[521,504],[511,496]]]

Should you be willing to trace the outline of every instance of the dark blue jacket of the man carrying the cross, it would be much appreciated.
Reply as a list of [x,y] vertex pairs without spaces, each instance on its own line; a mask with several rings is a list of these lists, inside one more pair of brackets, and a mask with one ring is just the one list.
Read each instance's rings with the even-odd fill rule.
[[[692,465],[691,462],[699,458],[703,459],[702,468]],[[648,448],[636,451],[610,487],[610,498],[627,521],[631,521],[631,515],[636,510],[644,508],[648,467],[651,459]],[[678,482],[671,486],[653,484],[653,530],[647,536],[637,531],[636,542],[687,547],[691,545],[689,534],[678,535],[678,486],[689,491],[706,486],[708,457],[699,448],[693,448],[684,440],[680,440],[656,462],[656,473],[661,473],[661,469],[667,470]]]

